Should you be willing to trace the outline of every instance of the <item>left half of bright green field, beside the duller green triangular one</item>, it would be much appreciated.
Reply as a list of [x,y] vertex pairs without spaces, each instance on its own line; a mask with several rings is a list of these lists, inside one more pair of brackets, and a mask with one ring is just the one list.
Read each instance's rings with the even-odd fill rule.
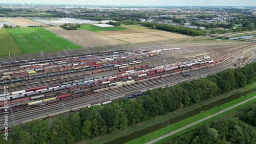
[[6,30],[25,54],[40,53],[40,50],[44,52],[52,51],[47,45],[31,35],[26,29]]

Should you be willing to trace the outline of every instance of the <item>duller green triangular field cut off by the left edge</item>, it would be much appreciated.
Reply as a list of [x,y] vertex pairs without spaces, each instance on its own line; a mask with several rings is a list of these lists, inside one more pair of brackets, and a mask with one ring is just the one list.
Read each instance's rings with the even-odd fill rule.
[[19,50],[18,46],[12,40],[12,38],[6,32],[5,29],[0,29],[0,43],[1,43],[0,56],[8,56],[9,53],[12,55],[22,54],[22,51]]

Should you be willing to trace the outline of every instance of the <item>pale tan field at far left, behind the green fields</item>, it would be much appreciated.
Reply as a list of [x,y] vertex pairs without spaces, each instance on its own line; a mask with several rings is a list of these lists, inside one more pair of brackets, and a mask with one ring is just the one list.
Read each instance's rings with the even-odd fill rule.
[[36,22],[36,21],[26,19],[26,18],[1,18],[1,19],[4,21],[11,22],[14,25],[18,25],[18,26],[28,26],[28,25],[41,25],[43,27],[48,26],[44,23]]

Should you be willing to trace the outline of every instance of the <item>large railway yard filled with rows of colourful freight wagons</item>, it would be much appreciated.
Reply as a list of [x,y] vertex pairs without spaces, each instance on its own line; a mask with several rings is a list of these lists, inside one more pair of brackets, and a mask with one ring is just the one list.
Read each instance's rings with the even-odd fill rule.
[[36,59],[38,54],[34,54],[30,60],[25,55],[13,62],[1,58],[0,111],[4,113],[4,92],[8,91],[8,112],[12,113],[8,125],[77,112],[117,98],[136,98],[147,89],[204,78],[227,68],[244,66],[256,58],[253,44],[237,41],[153,42],[84,52],[77,50],[65,57],[46,54],[48,58],[44,59]]

